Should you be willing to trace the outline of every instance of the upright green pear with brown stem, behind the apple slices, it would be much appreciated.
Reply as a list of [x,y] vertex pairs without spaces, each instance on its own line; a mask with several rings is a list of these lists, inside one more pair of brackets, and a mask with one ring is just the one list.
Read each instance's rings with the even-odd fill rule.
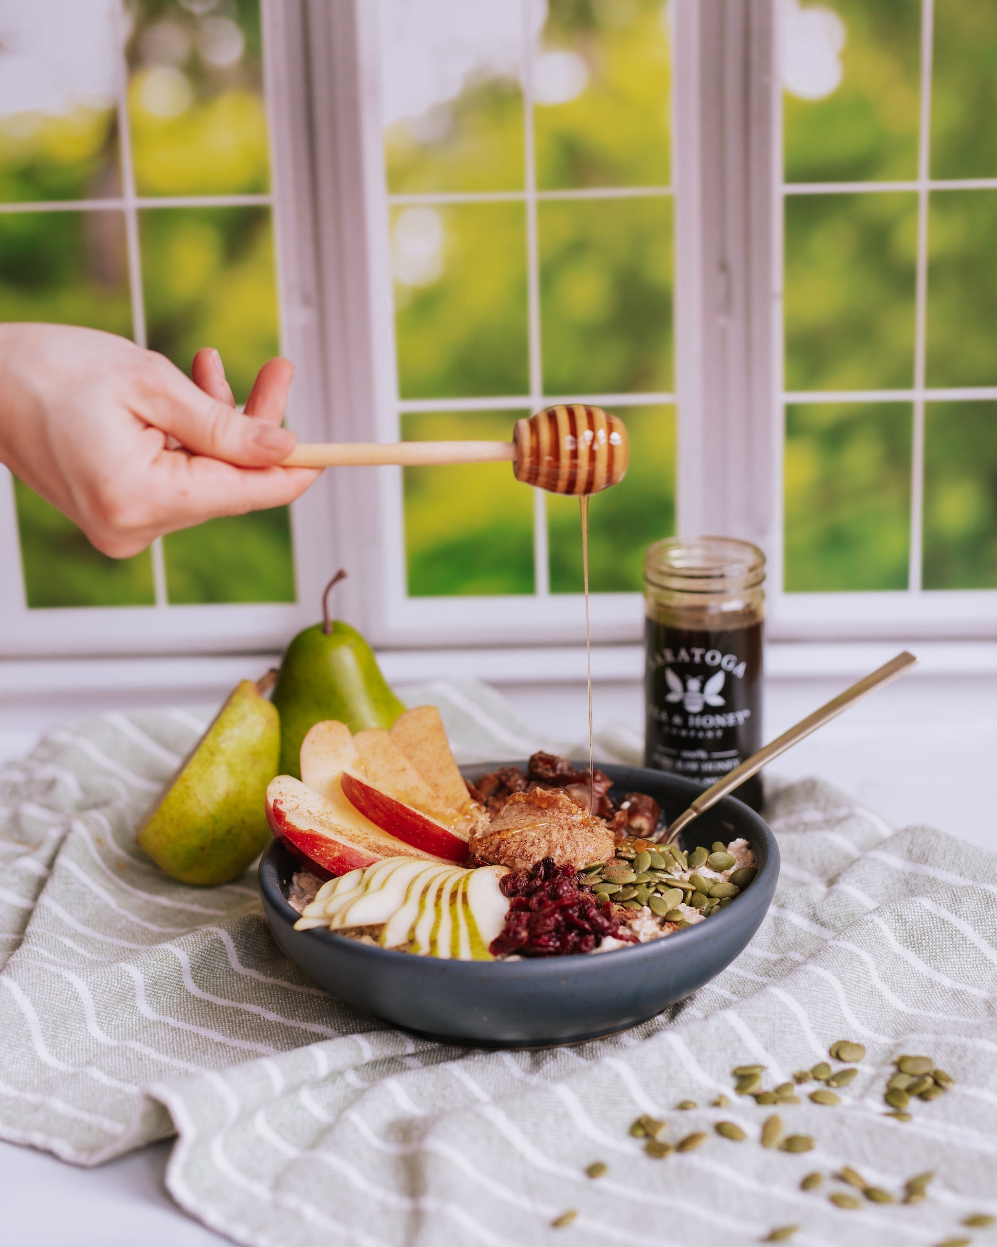
[[405,710],[381,675],[374,651],[356,628],[329,619],[329,590],[322,599],[323,622],[299,632],[284,651],[273,703],[280,712],[280,773],[302,778],[302,741],[327,718],[351,732],[390,727]]

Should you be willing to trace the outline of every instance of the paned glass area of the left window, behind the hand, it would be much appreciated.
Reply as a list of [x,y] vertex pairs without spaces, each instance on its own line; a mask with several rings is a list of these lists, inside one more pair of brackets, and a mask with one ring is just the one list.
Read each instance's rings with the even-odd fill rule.
[[[183,369],[216,345],[243,402],[279,347],[258,0],[9,11],[32,72],[0,117],[0,318],[121,333]],[[294,601],[287,509],[116,561],[20,484],[15,505],[29,609]]]

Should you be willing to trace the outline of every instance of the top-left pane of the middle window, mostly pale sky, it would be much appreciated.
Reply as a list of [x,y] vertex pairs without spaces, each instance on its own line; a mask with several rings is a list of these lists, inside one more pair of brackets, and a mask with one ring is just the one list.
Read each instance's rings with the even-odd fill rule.
[[523,187],[522,6],[379,0],[393,193]]

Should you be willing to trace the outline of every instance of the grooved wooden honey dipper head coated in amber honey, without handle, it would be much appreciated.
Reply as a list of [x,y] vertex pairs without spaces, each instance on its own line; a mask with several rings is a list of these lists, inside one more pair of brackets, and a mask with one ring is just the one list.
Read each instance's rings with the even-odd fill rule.
[[567,403],[517,420],[512,470],[552,494],[598,494],[627,474],[627,426],[601,407]]

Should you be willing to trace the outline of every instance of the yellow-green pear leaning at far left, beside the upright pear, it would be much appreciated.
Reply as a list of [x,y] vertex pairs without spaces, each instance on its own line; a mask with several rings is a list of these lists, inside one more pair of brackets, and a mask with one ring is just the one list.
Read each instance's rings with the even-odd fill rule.
[[267,784],[279,754],[277,707],[252,680],[241,681],[136,839],[182,883],[228,883],[269,843]]

